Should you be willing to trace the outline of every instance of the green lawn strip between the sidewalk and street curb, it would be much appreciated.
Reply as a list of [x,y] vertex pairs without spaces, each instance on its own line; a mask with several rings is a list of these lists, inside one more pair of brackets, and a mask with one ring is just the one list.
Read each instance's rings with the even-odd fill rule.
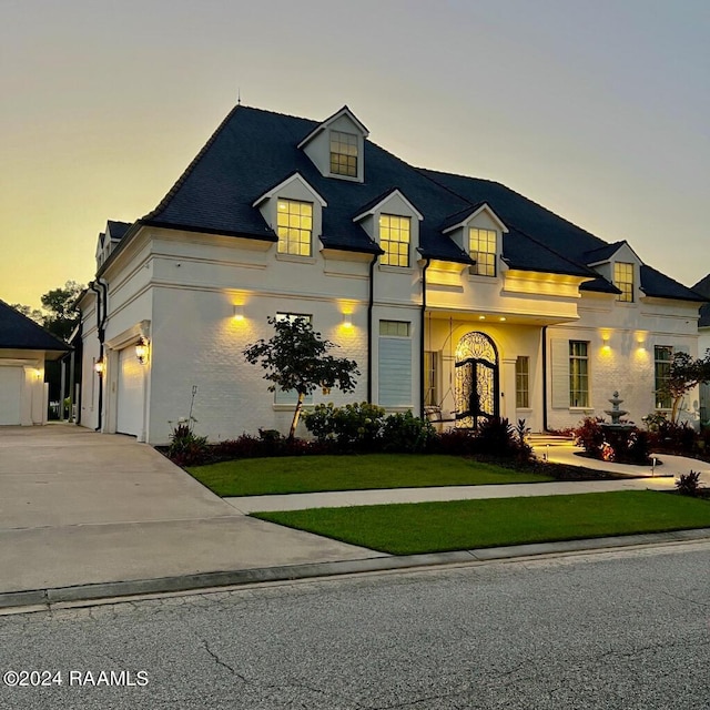
[[258,513],[393,555],[710,527],[710,500],[651,490]]

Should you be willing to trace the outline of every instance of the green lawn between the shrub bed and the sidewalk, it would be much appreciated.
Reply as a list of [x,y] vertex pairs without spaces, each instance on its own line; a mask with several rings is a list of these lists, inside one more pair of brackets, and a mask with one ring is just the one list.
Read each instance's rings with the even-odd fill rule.
[[362,456],[290,456],[247,458],[187,470],[219,496],[480,486],[554,480],[457,456],[368,454]]

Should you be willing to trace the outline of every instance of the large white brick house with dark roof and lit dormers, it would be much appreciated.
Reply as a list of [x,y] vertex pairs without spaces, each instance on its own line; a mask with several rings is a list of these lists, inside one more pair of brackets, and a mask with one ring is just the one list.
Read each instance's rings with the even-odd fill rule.
[[698,353],[702,297],[627,242],[415,169],[347,106],[322,122],[236,106],[155,210],[119,240],[112,224],[80,301],[81,420],[155,444],[191,410],[214,439],[287,429],[292,393],[242,354],[267,316],[306,316],[357,361],[354,394],[313,403],[462,427],[569,427],[615,390],[640,420],[670,407],[672,353]]

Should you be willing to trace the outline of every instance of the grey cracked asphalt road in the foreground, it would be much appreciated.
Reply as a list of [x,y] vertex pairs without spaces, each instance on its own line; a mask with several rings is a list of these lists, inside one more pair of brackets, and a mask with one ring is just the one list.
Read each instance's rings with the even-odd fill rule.
[[707,710],[710,541],[3,616],[0,671],[8,710]]

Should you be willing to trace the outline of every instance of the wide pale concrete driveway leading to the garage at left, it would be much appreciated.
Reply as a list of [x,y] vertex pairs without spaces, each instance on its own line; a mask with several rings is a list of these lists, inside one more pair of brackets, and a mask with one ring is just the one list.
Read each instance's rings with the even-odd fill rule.
[[0,592],[375,556],[248,518],[132,437],[0,427]]

